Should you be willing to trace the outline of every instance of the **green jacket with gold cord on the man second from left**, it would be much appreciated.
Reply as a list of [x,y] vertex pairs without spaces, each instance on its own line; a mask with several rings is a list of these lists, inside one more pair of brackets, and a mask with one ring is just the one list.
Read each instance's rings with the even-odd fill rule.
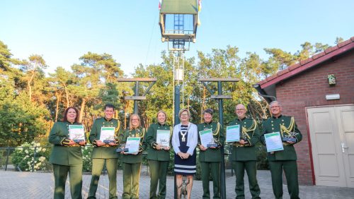
[[[103,145],[97,147],[96,140],[100,139],[101,128],[102,127],[114,127],[115,128],[115,138],[118,138],[118,133],[120,129],[120,121],[118,119],[107,119],[98,118],[92,125],[91,132],[89,135],[90,143],[93,144],[92,158],[118,158],[118,153],[115,152],[117,146]],[[119,143],[119,140],[116,140]]]

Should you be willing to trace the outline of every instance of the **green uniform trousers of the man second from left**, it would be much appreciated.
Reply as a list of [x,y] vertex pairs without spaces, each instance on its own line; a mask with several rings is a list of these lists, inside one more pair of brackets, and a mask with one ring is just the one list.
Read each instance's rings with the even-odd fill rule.
[[92,159],[92,178],[90,183],[89,197],[96,198],[96,191],[98,186],[98,181],[102,173],[103,166],[107,169],[108,179],[109,179],[109,198],[117,198],[117,165],[118,158],[93,158]]

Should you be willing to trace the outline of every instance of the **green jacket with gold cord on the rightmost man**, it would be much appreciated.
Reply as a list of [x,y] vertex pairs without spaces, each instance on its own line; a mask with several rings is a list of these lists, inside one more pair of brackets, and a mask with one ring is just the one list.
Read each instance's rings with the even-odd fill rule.
[[[278,118],[270,117],[269,119],[263,121],[263,133],[261,136],[261,141],[265,145],[264,134],[265,133],[273,133],[273,132],[280,132],[280,126],[285,126],[288,128],[291,125],[292,117],[291,116],[282,116],[280,115]],[[302,134],[297,128],[297,125],[294,120],[294,126],[292,129],[288,129],[292,132],[296,132],[297,135],[294,137],[297,139],[296,143],[302,140]],[[285,134],[285,133],[284,133]],[[297,155],[295,152],[295,147],[292,144],[283,143],[284,150],[276,151],[273,153],[268,152],[268,160],[275,161],[275,160],[296,160]]]

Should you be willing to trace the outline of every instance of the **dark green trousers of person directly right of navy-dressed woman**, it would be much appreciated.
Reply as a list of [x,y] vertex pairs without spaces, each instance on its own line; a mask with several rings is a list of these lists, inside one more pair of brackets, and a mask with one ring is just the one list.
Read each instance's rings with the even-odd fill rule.
[[202,198],[210,198],[209,176],[212,174],[213,198],[220,198],[220,162],[200,162]]

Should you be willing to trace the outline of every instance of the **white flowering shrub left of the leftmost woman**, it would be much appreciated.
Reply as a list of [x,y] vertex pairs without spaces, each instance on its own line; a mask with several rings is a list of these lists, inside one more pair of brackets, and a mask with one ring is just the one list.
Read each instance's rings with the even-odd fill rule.
[[40,147],[40,143],[24,143],[17,147],[11,156],[12,163],[22,171],[32,171],[32,165],[34,165],[34,171],[47,171],[50,169],[50,164],[48,163],[49,150],[45,147]]

